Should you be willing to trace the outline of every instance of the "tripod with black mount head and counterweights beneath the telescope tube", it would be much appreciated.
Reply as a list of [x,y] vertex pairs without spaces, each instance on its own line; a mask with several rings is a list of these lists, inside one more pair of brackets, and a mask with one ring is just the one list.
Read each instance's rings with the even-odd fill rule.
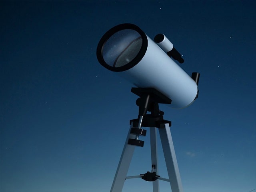
[[[139,116],[138,119],[130,120],[130,130],[124,144],[124,149],[110,192],[121,192],[125,180],[132,178],[142,178],[143,180],[151,181],[153,184],[153,192],[159,192],[159,180],[170,182],[172,192],[183,192],[170,132],[171,122],[164,120],[164,112],[159,110],[158,105],[159,103],[171,104],[172,100],[154,88],[132,88],[131,92],[140,96],[140,98],[136,100],[136,104],[139,106]],[[147,114],[147,112],[151,112],[151,114]],[[142,127],[150,128],[152,169],[150,172],[148,171],[138,176],[126,176],[135,147],[144,146],[144,141],[138,139],[139,136],[146,136],[146,130],[142,129]],[[160,134],[169,179],[161,178],[158,175],[157,129]]]

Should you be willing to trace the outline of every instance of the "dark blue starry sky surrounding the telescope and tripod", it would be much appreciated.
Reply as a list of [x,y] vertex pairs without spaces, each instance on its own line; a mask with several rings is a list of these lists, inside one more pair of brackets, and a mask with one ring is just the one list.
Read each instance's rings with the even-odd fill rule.
[[[160,105],[184,192],[256,188],[255,10],[256,1],[1,1],[0,191],[110,190],[137,96],[98,63],[96,47],[122,23],[165,34],[181,67],[201,74],[191,106]],[[150,168],[148,134],[128,175]],[[127,180],[123,191],[152,184]],[[160,181],[160,191],[170,185]]]

